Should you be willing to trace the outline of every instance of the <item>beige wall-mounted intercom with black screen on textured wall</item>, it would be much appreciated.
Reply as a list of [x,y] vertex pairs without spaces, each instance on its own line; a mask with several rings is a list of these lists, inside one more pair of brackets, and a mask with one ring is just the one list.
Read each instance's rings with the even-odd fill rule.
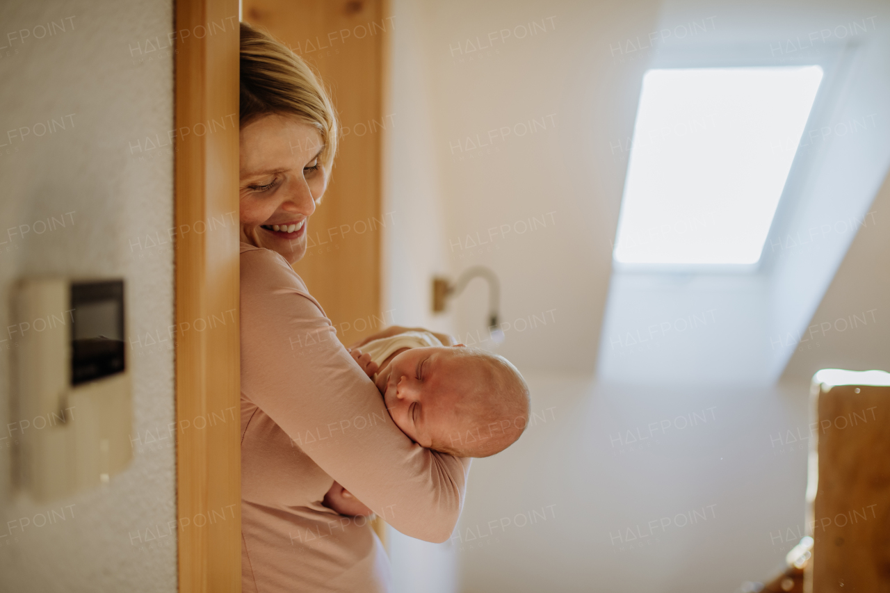
[[123,280],[21,280],[14,320],[25,487],[54,500],[108,483],[132,458]]

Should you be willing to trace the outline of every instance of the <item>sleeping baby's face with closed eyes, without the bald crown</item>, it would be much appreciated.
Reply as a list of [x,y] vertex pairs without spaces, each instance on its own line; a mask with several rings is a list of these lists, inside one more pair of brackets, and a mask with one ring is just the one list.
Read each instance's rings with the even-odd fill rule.
[[473,359],[457,347],[411,348],[377,374],[392,420],[423,447],[449,443],[449,435],[460,433],[457,404],[477,385]]

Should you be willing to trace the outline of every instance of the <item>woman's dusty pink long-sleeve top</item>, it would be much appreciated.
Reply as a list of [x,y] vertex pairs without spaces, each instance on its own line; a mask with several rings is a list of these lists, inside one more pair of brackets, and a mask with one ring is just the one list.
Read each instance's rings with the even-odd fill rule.
[[447,540],[469,459],[401,433],[284,257],[241,243],[242,589],[388,591],[364,517],[323,507],[336,480],[400,532]]

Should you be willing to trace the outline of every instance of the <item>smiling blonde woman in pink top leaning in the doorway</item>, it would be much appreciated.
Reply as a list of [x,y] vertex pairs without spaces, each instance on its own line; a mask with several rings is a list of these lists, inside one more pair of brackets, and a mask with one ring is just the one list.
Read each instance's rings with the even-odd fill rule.
[[[242,587],[385,591],[389,566],[365,517],[322,505],[336,482],[399,531],[441,542],[469,460],[401,433],[291,264],[328,184],[334,110],[312,71],[241,24]],[[391,334],[399,329],[390,329]]]

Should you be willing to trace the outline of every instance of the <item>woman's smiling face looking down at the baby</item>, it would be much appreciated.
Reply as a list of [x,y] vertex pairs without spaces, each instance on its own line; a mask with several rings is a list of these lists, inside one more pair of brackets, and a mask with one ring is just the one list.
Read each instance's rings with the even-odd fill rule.
[[241,240],[294,264],[306,253],[306,225],[328,186],[318,129],[269,115],[240,132]]

